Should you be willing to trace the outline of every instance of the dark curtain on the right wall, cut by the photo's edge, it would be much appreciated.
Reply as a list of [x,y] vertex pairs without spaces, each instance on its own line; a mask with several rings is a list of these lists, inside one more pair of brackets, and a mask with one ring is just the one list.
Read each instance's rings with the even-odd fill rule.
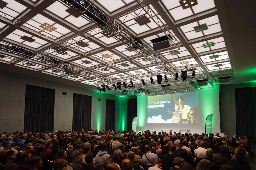
[[256,141],[256,87],[236,89],[236,134]]

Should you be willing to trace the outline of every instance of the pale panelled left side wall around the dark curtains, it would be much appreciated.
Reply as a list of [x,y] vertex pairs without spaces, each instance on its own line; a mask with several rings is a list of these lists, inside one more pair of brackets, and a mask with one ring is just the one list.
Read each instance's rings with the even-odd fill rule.
[[[24,130],[26,84],[55,89],[54,131],[72,130],[73,93],[92,96],[92,129],[105,129],[106,99],[118,98],[114,95],[0,70],[0,132]],[[62,92],[66,92],[67,95],[62,95]],[[98,101],[98,98],[101,101]],[[100,126],[97,125],[96,116],[100,117]]]

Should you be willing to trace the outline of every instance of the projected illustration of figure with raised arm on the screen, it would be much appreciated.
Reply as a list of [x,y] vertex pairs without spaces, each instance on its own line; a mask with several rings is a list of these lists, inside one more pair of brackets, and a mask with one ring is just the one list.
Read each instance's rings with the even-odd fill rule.
[[[174,108],[174,112],[170,112],[168,110],[168,112],[170,114],[173,114],[175,115],[174,119],[172,119],[172,123],[176,123],[176,124],[179,124],[179,123],[186,123],[188,122],[191,118],[190,118],[190,114],[192,114],[192,108],[188,105],[184,105],[184,97],[183,96],[179,96],[179,99],[178,99],[178,102],[177,100],[175,99],[174,95],[172,95],[172,99],[173,99],[173,102],[175,104],[175,108]],[[193,106],[192,106],[193,107]]]

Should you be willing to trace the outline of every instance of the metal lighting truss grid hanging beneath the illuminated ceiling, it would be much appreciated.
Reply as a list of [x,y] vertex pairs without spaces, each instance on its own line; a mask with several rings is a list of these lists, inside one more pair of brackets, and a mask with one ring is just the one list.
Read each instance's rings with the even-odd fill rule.
[[[23,67],[28,67],[29,65],[35,65],[34,69],[41,70],[41,71],[47,71],[47,70],[49,70],[50,67],[53,68],[53,66],[55,66],[57,68],[57,71],[59,71],[59,73],[57,74],[58,76],[63,76],[63,77],[67,77],[67,78],[72,77],[72,76],[77,76],[77,75],[84,76],[85,78],[97,79],[97,80],[100,80],[101,82],[105,81],[106,84],[110,84],[109,87],[112,87],[112,84],[117,82],[116,79],[112,79],[112,78],[103,76],[101,74],[98,74],[95,71],[102,69],[103,67],[111,67],[111,66],[119,65],[120,63],[126,63],[126,62],[130,62],[132,60],[139,60],[139,59],[146,58],[148,61],[161,67],[162,70],[156,71],[156,72],[151,72],[151,73],[145,73],[145,75],[142,75],[142,74],[134,75],[134,76],[128,77],[129,81],[136,79],[136,78],[148,77],[146,74],[149,74],[149,76],[159,75],[159,74],[167,74],[167,75],[171,75],[171,76],[175,77],[176,72],[179,73],[178,80],[162,82],[161,85],[179,83],[181,81],[180,80],[181,70],[179,70],[179,68],[173,67],[168,62],[163,60],[162,57],[159,55],[159,51],[156,52],[156,51],[151,50],[151,48],[149,46],[147,46],[146,44],[143,44],[136,36],[132,35],[129,31],[127,31],[125,28],[122,27],[123,23],[128,22],[130,20],[125,21],[125,22],[124,21],[120,22],[118,19],[111,20],[111,19],[107,19],[107,18],[106,18],[106,20],[104,18],[102,20],[101,18],[99,18],[99,16],[106,16],[106,15],[99,10],[98,10],[98,12],[99,12],[98,14],[96,14],[95,11],[90,11],[88,8],[94,7],[94,6],[89,1],[85,1],[85,0],[83,0],[83,1],[82,0],[62,0],[62,1],[64,3],[66,3],[67,5],[69,5],[70,7],[75,8],[78,12],[80,12],[82,15],[84,15],[87,19],[98,24],[99,26],[95,27],[95,28],[100,28],[100,29],[98,29],[99,31],[97,34],[102,34],[104,32],[112,33],[112,37],[114,37],[115,39],[125,42],[129,47],[136,48],[136,51],[138,52],[138,54],[129,56],[125,59],[121,58],[121,59],[114,60],[114,61],[110,62],[100,56],[97,56],[97,55],[91,53],[91,52],[88,52],[88,51],[81,52],[84,50],[80,50],[79,46],[74,47],[74,44],[76,44],[78,42],[82,42],[83,40],[86,40],[92,36],[95,36],[95,34],[92,33],[95,28],[92,28],[91,30],[87,31],[86,33],[80,34],[79,36],[82,37],[80,40],[77,40],[77,36],[70,38],[68,40],[62,40],[62,39],[60,39],[58,37],[54,37],[52,35],[46,37],[46,36],[44,36],[46,33],[44,30],[37,29],[32,25],[24,23],[23,21],[21,21],[18,18],[15,18],[14,22],[10,21],[10,20],[3,20],[3,19],[0,19],[0,21],[7,25],[19,27],[20,30],[22,30],[32,36],[42,37],[44,39],[47,39],[52,44],[56,44],[56,45],[51,46],[48,49],[46,49],[40,53],[34,53],[32,51],[17,47],[15,45],[12,45],[12,44],[9,44],[6,42],[0,42],[1,55],[3,55],[4,58],[8,59],[8,61],[4,61],[4,62],[14,63],[15,65],[19,65],[19,66],[21,65]],[[152,21],[154,21],[157,24],[157,26],[163,31],[163,33],[170,39],[170,41],[172,41],[173,45],[171,48],[169,48],[169,50],[170,51],[179,50],[180,43],[171,34],[169,29],[160,20],[160,18],[155,14],[155,12],[150,8],[150,6],[147,4],[142,5],[138,0],[136,0],[136,1],[138,2],[139,6],[140,6],[141,12],[138,14],[138,16],[136,16],[133,19],[136,19],[143,15],[148,15],[152,19]],[[88,4],[89,5],[85,6],[85,2],[87,3],[87,5]],[[96,7],[94,7],[94,8],[96,8]],[[137,9],[135,9],[135,10],[137,10]],[[131,15],[130,13],[132,13],[132,12],[133,11],[131,11],[125,15],[127,15],[127,16]],[[89,13],[91,16],[93,16],[94,19],[91,19],[90,17],[86,16],[85,13],[87,13],[87,14]],[[10,15],[8,15],[4,12],[2,12],[1,15],[5,16],[5,18],[10,17]],[[153,16],[154,16],[154,18],[153,18]],[[96,21],[98,21],[98,22],[100,21],[101,24],[97,23]],[[17,25],[17,23],[19,25]],[[28,29],[28,27],[27,27],[28,25],[34,29]],[[37,32],[39,32],[40,34],[35,33],[35,30]],[[168,35],[170,35],[171,37],[169,37]],[[73,41],[73,40],[76,40],[76,41]],[[56,52],[58,50],[63,50],[63,49],[75,51],[78,54],[81,54],[82,56],[85,56],[87,58],[96,59],[100,64],[84,69],[84,68],[78,67],[76,65],[69,64],[64,61],[55,59],[54,55],[52,55],[52,53]],[[164,50],[166,50],[166,49],[164,49]],[[170,52],[170,51],[168,51],[168,52]],[[0,60],[3,60],[3,57],[0,57]],[[37,65],[41,65],[41,67],[37,68]],[[202,77],[204,77],[204,79],[207,80],[207,82],[208,82],[207,86],[213,87],[212,81],[210,79],[208,79],[208,77],[205,75],[205,73],[198,66],[195,66],[195,68],[202,75]],[[197,77],[193,78],[193,80],[196,80],[196,79],[197,79]],[[194,89],[195,85],[193,83],[192,84],[189,83],[190,81],[193,81],[193,80],[191,80],[191,78],[187,78],[187,81],[184,81],[182,83],[184,85],[186,85],[187,87]],[[152,86],[152,85],[150,83],[147,83],[146,86]],[[144,86],[144,87],[146,87],[146,86]],[[205,88],[207,86],[205,86]],[[201,88],[204,88],[204,87],[201,87]],[[137,90],[137,92],[142,92],[144,89],[142,87],[140,87],[140,85],[135,84],[135,87],[131,87],[131,90],[133,90],[133,91]],[[145,92],[142,92],[142,93],[145,93]],[[150,92],[148,92],[147,94],[150,94]]]

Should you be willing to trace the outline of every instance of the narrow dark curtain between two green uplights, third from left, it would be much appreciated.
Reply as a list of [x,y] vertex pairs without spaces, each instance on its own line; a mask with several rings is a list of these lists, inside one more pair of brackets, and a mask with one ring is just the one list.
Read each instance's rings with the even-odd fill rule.
[[115,129],[115,101],[106,99],[106,130]]

